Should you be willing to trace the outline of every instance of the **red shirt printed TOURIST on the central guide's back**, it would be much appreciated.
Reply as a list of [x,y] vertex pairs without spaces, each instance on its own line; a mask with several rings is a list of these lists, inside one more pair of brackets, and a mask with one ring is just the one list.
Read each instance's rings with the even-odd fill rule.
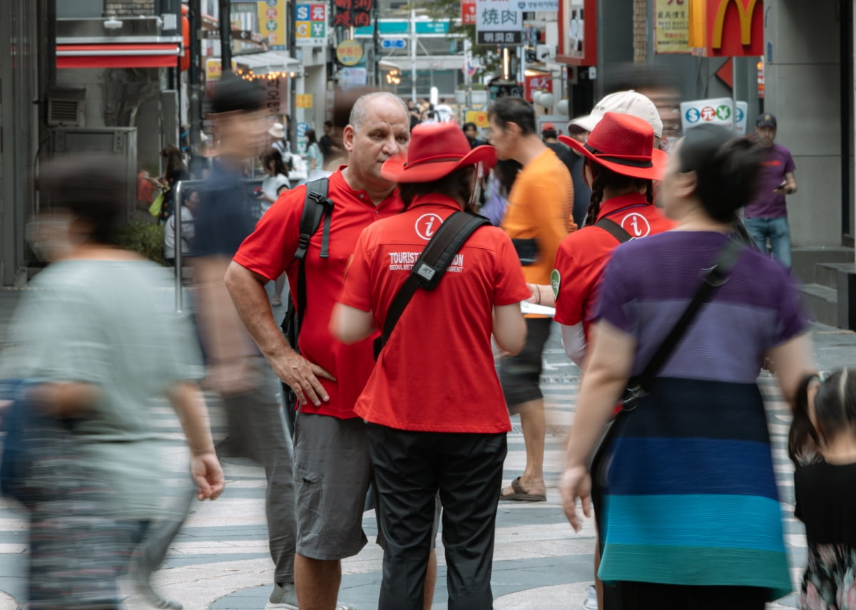
[[[382,329],[431,234],[456,210],[461,206],[453,199],[425,195],[403,214],[366,228],[339,300],[372,311]],[[479,228],[437,287],[413,295],[354,411],[397,429],[507,432],[508,410],[490,348],[493,307],[529,295],[511,240],[500,228]]]

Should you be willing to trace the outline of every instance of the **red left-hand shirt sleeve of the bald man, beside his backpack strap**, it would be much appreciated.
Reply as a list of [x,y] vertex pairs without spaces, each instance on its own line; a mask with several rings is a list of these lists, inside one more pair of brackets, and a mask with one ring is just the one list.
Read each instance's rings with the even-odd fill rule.
[[300,243],[300,215],[306,187],[283,192],[243,241],[233,260],[270,281],[294,263]]

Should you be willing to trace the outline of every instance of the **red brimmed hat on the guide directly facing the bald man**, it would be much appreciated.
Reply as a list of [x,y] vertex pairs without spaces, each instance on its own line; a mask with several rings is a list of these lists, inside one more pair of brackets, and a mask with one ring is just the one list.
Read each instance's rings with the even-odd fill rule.
[[496,163],[496,149],[490,145],[470,148],[467,136],[455,123],[419,123],[410,133],[407,159],[389,157],[381,175],[395,182],[433,182],[455,169],[484,163]]

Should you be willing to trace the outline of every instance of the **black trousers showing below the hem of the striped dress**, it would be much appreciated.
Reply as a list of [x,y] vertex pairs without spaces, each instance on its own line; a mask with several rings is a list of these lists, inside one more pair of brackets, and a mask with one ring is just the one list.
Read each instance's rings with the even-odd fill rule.
[[767,589],[758,587],[700,587],[681,584],[617,584],[622,610],[764,610]]

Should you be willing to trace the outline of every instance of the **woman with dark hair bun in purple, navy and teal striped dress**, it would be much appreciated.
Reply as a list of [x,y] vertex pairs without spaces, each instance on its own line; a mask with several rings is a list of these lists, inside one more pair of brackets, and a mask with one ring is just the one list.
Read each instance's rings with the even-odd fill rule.
[[[708,279],[703,270],[727,252],[761,157],[721,127],[691,129],[661,183],[663,210],[677,228],[622,244],[607,265],[561,483],[575,530],[578,498],[591,514],[587,458],[630,377],[649,364]],[[635,409],[615,424],[621,427],[592,474],[606,489],[598,576],[618,588],[622,608],[761,610],[790,592],[757,377],[764,356],[774,359],[792,400],[809,370],[805,331],[787,272],[743,248]]]

